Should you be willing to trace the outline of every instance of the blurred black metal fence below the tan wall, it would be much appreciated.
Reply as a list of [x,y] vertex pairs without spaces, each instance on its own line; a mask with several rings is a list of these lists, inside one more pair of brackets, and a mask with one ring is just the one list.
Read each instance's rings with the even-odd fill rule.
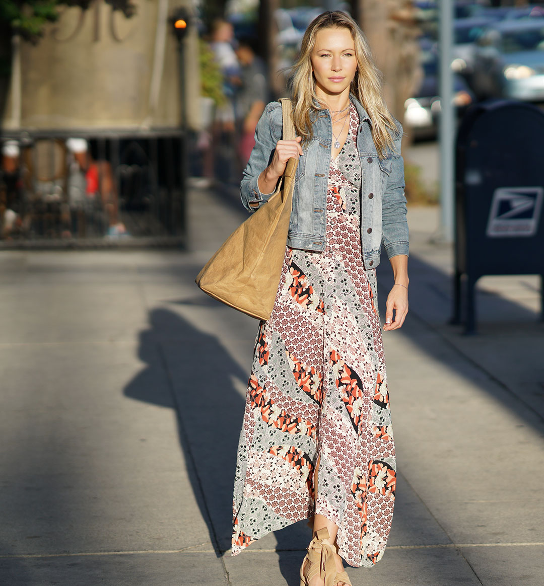
[[185,245],[185,141],[2,132],[0,248]]

